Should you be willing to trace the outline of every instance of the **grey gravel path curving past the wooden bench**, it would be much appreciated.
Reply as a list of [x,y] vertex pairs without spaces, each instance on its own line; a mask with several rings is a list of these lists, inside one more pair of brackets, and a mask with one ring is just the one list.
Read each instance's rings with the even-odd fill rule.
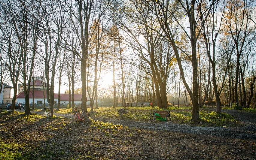
[[[241,112],[236,110],[222,110],[234,118],[245,123],[243,127],[199,127],[190,125],[172,124],[170,122],[139,122],[131,120],[117,120],[110,118],[91,117],[93,120],[102,122],[110,122],[113,124],[124,125],[140,129],[149,130],[166,130],[190,134],[209,134],[215,136],[235,137],[235,138],[248,138],[256,140],[256,114]],[[38,113],[39,112],[34,112]],[[42,114],[42,113],[41,113]],[[69,118],[70,114],[54,113],[55,116],[62,116]]]

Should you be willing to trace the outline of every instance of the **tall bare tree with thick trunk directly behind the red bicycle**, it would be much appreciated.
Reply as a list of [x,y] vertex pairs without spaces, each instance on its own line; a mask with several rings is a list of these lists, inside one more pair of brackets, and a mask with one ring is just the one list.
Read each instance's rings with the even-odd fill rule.
[[[94,17],[95,3],[93,0],[88,1],[72,1],[65,0],[67,8],[66,11],[70,15],[71,26],[75,31],[75,35],[79,39],[79,45],[81,52],[75,52],[81,60],[81,82],[82,82],[82,109],[87,110],[87,57],[88,57],[88,46],[91,39],[91,27],[92,20]],[[72,48],[72,46],[68,46]],[[71,49],[72,50],[72,49]],[[74,50],[72,50],[74,51]]]

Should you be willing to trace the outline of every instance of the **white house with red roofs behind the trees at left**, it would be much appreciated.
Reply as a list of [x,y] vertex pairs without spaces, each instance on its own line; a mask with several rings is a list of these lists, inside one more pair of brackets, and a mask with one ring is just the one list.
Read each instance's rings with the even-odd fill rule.
[[[46,92],[45,92],[45,88],[46,88],[46,84],[41,81],[39,78],[36,78],[34,81],[32,81],[30,83],[31,85],[31,89],[29,92],[29,103],[33,102],[33,92],[32,92],[32,87],[33,87],[33,83],[35,83],[35,90],[34,90],[34,102],[35,103],[48,103],[47,98],[46,98]],[[23,85],[20,85],[18,87],[18,94],[16,96],[16,102],[19,103],[25,103],[25,95],[24,95],[24,89],[23,89]],[[87,96],[87,102],[90,102],[89,96]],[[81,103],[82,99],[82,94],[74,94],[74,103]],[[72,100],[72,97],[71,97]],[[54,101],[55,103],[58,102],[58,94],[54,93]],[[69,94],[66,93],[60,93],[60,104],[68,104],[69,103]]]

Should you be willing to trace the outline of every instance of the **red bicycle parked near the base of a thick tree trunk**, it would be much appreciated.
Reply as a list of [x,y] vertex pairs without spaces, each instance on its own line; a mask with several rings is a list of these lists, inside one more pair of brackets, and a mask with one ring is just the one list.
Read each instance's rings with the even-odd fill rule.
[[70,122],[81,122],[83,126],[87,126],[89,122],[89,114],[86,111],[80,113],[81,109],[75,108],[76,113],[70,117]]

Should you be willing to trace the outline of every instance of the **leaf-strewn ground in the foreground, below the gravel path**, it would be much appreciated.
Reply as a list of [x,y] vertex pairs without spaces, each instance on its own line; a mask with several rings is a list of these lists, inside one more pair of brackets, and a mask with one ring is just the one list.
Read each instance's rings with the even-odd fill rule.
[[0,159],[255,159],[255,140],[0,113]]

